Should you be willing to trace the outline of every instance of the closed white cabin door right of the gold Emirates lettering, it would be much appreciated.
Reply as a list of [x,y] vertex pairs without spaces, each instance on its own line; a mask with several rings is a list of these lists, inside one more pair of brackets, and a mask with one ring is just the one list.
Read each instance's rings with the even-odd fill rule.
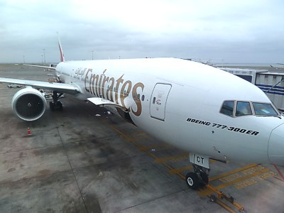
[[170,84],[155,84],[150,102],[152,118],[165,121],[165,106],[171,87]]

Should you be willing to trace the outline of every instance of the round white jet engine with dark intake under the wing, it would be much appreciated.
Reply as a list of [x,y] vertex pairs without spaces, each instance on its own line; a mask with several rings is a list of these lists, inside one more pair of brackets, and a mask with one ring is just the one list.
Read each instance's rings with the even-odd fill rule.
[[46,100],[37,89],[27,87],[14,94],[12,99],[13,113],[24,121],[35,121],[43,116]]

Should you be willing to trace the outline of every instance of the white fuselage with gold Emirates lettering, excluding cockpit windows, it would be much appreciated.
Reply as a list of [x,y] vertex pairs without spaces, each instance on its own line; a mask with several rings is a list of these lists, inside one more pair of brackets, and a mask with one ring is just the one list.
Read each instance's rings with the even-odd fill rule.
[[114,102],[136,126],[185,151],[284,165],[283,116],[219,113],[225,100],[271,103],[261,89],[227,72],[175,58],[60,62],[56,72],[80,88],[79,99]]

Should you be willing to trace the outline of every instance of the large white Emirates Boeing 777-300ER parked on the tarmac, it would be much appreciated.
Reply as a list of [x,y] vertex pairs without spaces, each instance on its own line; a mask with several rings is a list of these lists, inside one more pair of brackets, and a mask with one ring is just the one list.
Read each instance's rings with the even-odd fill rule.
[[[53,91],[51,110],[62,110],[66,93],[106,107],[151,134],[190,152],[191,189],[207,185],[209,159],[284,165],[284,116],[261,89],[228,72],[178,58],[65,61],[56,82],[0,77],[21,84],[12,109],[24,121],[40,119],[43,94]],[[43,66],[40,66],[43,67]]]

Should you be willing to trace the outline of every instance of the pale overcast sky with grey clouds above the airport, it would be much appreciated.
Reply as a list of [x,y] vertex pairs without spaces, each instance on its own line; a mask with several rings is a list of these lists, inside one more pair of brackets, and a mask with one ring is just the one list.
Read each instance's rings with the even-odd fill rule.
[[[284,62],[283,0],[0,0],[0,62]],[[92,52],[93,51],[93,52]]]

